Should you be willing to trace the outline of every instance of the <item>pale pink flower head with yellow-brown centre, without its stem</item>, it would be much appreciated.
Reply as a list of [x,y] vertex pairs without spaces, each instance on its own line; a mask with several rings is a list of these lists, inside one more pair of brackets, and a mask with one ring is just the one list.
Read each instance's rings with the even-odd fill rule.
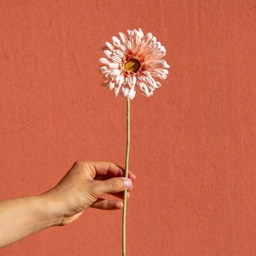
[[166,79],[170,66],[161,60],[166,50],[156,36],[141,29],[127,30],[128,35],[113,36],[113,44],[106,42],[102,51],[106,58],[100,58],[99,72],[106,79],[102,86],[114,89],[115,97],[121,92],[126,99],[133,99],[136,88],[146,97],[152,96],[161,83],[155,79]]

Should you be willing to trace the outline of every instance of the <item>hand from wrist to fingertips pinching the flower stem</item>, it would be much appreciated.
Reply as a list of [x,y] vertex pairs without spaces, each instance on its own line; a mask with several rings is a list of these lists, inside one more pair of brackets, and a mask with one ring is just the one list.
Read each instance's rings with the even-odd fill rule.
[[67,174],[51,190],[40,195],[48,202],[52,214],[60,216],[58,225],[71,223],[81,216],[88,207],[104,210],[122,209],[120,200],[101,198],[105,194],[123,198],[127,189],[132,190],[136,176],[129,172],[124,179],[124,169],[110,162],[76,161]]

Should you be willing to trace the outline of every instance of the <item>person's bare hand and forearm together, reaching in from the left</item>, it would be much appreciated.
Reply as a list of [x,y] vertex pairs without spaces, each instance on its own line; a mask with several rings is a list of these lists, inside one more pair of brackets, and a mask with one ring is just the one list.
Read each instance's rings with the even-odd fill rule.
[[122,200],[107,200],[106,194],[127,198],[136,176],[129,172],[125,187],[124,168],[103,161],[79,160],[49,191],[0,201],[0,248],[52,226],[75,221],[88,207],[102,210],[123,208]]

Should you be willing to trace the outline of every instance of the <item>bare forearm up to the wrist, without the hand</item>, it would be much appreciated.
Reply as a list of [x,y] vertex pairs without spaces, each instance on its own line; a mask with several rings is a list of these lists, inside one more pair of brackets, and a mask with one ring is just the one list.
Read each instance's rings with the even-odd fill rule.
[[59,216],[44,196],[26,196],[0,201],[0,248],[58,225]]

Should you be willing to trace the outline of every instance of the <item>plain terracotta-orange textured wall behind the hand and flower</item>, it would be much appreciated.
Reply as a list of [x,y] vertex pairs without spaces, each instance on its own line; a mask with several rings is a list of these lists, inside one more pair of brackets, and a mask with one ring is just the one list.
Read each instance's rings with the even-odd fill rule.
[[[0,1],[0,197],[38,195],[76,159],[124,165],[125,100],[100,47],[141,27],[172,68],[131,102],[127,255],[256,255],[255,1]],[[1,232],[1,230],[0,230]],[[121,255],[122,211],[88,209],[0,255]]]

